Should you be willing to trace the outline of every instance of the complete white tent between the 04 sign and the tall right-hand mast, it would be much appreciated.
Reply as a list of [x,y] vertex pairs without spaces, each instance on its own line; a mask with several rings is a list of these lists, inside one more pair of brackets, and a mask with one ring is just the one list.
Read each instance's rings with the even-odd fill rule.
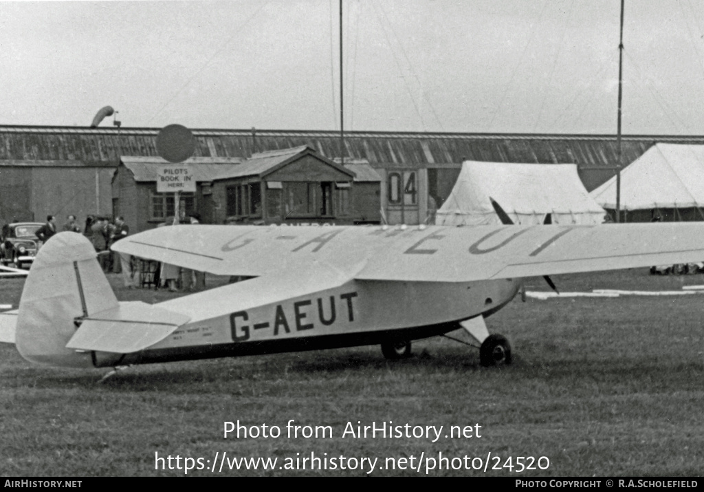
[[498,224],[491,204],[513,223],[532,225],[602,223],[605,211],[589,197],[576,164],[507,164],[465,161],[455,187],[436,212],[445,226]]

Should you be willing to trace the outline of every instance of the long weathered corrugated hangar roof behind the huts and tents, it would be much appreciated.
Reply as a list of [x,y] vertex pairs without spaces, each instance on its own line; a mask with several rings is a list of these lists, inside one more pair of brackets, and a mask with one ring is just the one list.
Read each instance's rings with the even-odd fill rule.
[[[120,156],[157,156],[160,128],[0,125],[0,166],[117,166]],[[340,135],[320,130],[191,130],[195,156],[249,158],[262,150],[307,145],[332,159]],[[656,142],[704,144],[704,135],[624,135],[624,166]],[[616,135],[517,133],[346,132],[345,159],[372,168],[457,168],[466,160],[534,164],[574,163],[596,187],[613,175]],[[598,178],[598,179],[597,179]]]

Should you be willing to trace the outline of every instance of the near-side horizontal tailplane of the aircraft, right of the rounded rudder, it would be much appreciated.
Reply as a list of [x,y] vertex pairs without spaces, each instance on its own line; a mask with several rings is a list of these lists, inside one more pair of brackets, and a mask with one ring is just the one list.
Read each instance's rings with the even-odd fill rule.
[[121,302],[82,321],[66,348],[128,354],[153,345],[190,320],[144,302]]

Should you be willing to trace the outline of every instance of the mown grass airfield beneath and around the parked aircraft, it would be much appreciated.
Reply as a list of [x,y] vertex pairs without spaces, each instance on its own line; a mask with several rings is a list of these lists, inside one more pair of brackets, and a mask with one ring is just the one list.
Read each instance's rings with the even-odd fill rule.
[[[128,291],[120,300],[172,294]],[[650,276],[647,269],[553,278],[561,291],[679,290],[702,276]],[[18,305],[23,281],[0,281],[0,304]],[[530,279],[529,290],[549,290]],[[431,476],[699,476],[704,470],[704,295],[516,298],[488,318],[507,336],[514,364],[479,366],[478,351],[446,338],[414,342],[414,356],[388,362],[377,346],[105,370],[45,369],[0,345],[0,475],[180,476],[155,469],[184,457],[190,475],[425,476],[427,460],[489,457]],[[287,422],[329,426],[332,436],[287,437]],[[279,426],[278,438],[223,438],[223,422]],[[471,438],[356,438],[348,422],[481,426]],[[220,458],[277,458],[276,469],[230,470]],[[215,473],[210,467],[218,455]],[[285,469],[303,457],[346,457],[357,469]],[[327,453],[325,455],[324,453]],[[489,454],[491,453],[491,454]],[[423,457],[423,461],[419,458]],[[410,458],[413,457],[413,461]],[[497,465],[498,469],[493,469]],[[507,462],[511,457],[512,460]],[[517,457],[547,469],[517,472]],[[396,469],[391,468],[393,458]],[[406,461],[400,460],[406,458]],[[287,460],[288,459],[288,460]],[[210,460],[209,462],[207,460]],[[400,467],[417,467],[420,472]],[[524,466],[529,460],[522,460]],[[540,462],[545,467],[546,460]],[[177,466],[175,460],[172,467]],[[448,461],[452,467],[458,460]],[[464,469],[467,464],[470,469]],[[533,465],[537,467],[536,460]],[[199,462],[191,462],[198,467]],[[513,471],[508,467],[513,465]],[[322,466],[322,462],[320,462]],[[438,463],[436,462],[436,467]],[[284,469],[279,469],[284,467]]]

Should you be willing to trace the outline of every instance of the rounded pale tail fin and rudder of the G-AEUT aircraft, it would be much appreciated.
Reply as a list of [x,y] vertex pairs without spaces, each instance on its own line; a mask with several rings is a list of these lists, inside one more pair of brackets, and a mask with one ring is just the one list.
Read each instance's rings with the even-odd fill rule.
[[58,233],[37,253],[25,281],[15,329],[15,345],[30,362],[91,367],[90,357],[66,348],[77,321],[119,306],[96,261],[89,240]]

